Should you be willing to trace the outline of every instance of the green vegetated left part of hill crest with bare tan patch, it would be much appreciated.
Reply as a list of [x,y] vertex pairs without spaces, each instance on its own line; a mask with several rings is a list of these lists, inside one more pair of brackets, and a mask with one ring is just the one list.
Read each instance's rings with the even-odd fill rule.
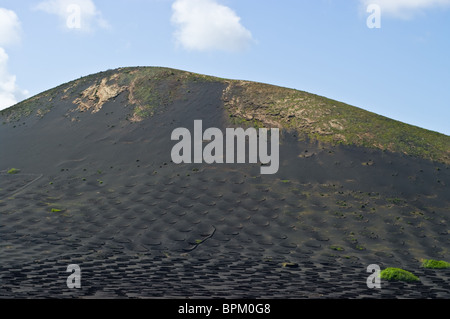
[[134,107],[132,121],[153,116],[158,109],[186,94],[191,83],[219,81],[218,78],[162,67],[130,67],[108,70],[79,78],[0,111],[4,123],[43,117],[58,101],[72,101],[81,112],[98,112],[103,104],[122,92]]

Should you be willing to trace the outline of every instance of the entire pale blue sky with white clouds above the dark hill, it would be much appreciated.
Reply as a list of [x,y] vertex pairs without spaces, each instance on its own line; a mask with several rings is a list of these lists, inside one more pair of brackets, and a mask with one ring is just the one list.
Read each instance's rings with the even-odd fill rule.
[[0,108],[107,69],[165,66],[450,135],[449,57],[450,0],[0,0]]

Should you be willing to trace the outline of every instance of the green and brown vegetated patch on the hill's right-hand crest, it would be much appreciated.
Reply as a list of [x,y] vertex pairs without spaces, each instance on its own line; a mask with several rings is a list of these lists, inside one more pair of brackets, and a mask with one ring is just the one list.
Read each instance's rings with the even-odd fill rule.
[[224,101],[234,121],[297,130],[299,138],[378,148],[450,163],[450,137],[307,92],[231,81]]

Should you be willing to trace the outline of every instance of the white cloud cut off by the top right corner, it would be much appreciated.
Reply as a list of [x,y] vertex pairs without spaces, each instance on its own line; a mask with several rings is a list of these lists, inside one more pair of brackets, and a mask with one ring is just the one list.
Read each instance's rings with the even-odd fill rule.
[[399,18],[411,18],[424,9],[450,7],[450,0],[360,0],[367,7],[378,4],[383,14]]

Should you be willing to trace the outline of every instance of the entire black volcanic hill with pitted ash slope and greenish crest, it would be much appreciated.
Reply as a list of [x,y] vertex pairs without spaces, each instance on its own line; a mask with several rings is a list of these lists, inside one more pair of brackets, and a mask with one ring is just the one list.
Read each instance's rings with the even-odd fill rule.
[[[281,128],[279,172],[173,164],[172,131],[198,119]],[[449,154],[448,136],[306,92],[165,68],[84,77],[1,112],[0,295],[59,296],[79,263],[81,296],[355,297],[369,264],[450,258]],[[419,288],[442,296],[433,280]]]

